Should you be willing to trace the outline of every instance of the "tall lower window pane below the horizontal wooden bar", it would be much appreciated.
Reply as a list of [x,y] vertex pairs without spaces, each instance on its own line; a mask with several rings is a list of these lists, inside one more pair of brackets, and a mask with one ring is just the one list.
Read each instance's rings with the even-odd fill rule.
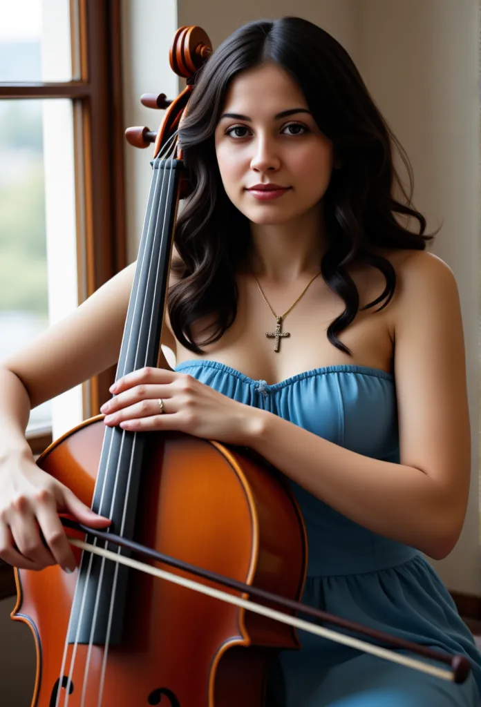
[[[71,101],[0,101],[0,358],[77,306],[74,195]],[[74,426],[79,400],[74,389],[33,409],[29,431],[55,409]]]

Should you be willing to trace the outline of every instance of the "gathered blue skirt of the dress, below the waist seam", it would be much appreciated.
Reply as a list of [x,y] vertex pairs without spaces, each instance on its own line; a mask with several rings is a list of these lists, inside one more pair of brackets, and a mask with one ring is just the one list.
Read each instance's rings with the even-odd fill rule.
[[463,684],[446,682],[298,631],[301,650],[283,651],[270,674],[268,707],[480,707],[480,653],[451,595],[422,555],[376,572],[308,577],[302,601],[434,650],[462,653],[473,670]]

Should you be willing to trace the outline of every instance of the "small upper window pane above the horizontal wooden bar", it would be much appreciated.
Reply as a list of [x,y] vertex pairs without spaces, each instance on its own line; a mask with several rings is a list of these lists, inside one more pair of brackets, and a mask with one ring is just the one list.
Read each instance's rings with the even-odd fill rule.
[[70,0],[0,0],[0,81],[79,78],[79,43],[70,29],[78,28],[76,9]]

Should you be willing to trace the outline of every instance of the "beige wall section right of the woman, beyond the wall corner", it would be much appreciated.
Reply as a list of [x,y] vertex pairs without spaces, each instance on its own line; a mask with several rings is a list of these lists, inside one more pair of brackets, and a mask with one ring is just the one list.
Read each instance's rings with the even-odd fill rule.
[[479,89],[477,0],[364,0],[359,69],[415,173],[415,205],[432,251],[453,269],[463,325],[473,466],[468,514],[456,549],[436,570],[451,590],[480,595]]

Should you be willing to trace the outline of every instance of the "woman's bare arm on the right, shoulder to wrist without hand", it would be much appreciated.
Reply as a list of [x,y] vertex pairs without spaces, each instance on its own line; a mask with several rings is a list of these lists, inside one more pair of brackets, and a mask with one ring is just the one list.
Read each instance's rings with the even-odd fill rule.
[[458,541],[470,484],[458,288],[451,269],[427,252],[409,258],[400,288],[400,464],[357,454],[262,412],[246,443],[351,520],[442,559]]

